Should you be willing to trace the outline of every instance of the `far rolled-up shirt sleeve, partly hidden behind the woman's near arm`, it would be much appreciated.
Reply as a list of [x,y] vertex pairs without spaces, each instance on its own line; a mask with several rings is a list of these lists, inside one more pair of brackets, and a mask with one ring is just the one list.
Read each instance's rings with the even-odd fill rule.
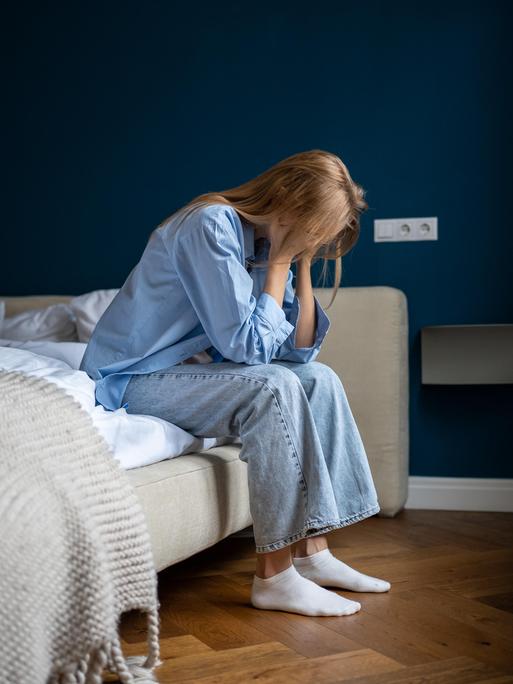
[[283,310],[285,312],[285,317],[289,323],[294,327],[293,333],[287,337],[287,339],[281,344],[276,352],[277,359],[283,359],[284,361],[296,361],[297,363],[307,363],[308,361],[314,361],[318,356],[321,345],[326,337],[331,322],[319,303],[317,297],[314,296],[315,301],[315,338],[311,347],[296,347],[296,331],[297,322],[299,319],[299,314],[301,311],[301,304],[299,298],[294,293],[292,287],[292,270],[289,271],[287,278],[287,285],[285,288],[285,295],[283,298]]

